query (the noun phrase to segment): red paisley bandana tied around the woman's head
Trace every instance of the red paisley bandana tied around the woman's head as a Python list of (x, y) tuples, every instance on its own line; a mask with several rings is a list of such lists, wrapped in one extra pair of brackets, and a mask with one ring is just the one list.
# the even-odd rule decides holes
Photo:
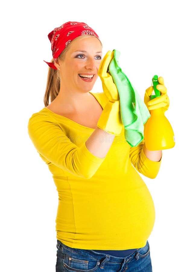
[[(95, 37), (98, 37), (97, 33), (94, 32), (94, 30), (85, 23), (67, 22), (65, 24), (62, 24), (59, 28), (54, 28), (54, 30), (51, 31), (48, 35), (51, 42), (52, 56), (54, 61), (59, 57), (65, 47), (72, 40), (82, 35), (93, 35)], [(57, 70), (54, 63), (46, 63), (51, 68)]]

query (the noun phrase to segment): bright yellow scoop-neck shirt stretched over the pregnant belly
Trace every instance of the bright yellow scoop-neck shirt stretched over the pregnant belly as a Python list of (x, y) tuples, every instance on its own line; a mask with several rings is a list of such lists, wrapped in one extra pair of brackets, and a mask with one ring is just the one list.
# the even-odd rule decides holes
[[(92, 95), (104, 108), (105, 95)], [(144, 141), (130, 147), (123, 129), (106, 157), (98, 158), (85, 145), (93, 131), (48, 108), (29, 119), (29, 137), (58, 191), (57, 239), (71, 248), (141, 248), (153, 229), (155, 211), (138, 172), (154, 178), (160, 162), (145, 156)]]

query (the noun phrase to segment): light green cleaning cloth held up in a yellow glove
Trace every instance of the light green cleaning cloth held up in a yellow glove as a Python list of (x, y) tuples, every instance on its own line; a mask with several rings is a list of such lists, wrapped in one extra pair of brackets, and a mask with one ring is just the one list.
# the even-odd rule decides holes
[(150, 117), (148, 108), (128, 77), (119, 67), (120, 52), (114, 51), (114, 58), (109, 63), (109, 73), (119, 93), (121, 119), (125, 128), (125, 140), (130, 146), (137, 146), (144, 139), (144, 123)]

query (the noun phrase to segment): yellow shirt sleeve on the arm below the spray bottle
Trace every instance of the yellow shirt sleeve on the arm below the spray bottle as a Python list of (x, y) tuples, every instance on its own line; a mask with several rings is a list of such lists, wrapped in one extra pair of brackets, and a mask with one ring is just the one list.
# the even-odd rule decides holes
[(139, 173), (154, 179), (160, 169), (160, 161), (149, 160), (143, 151), (144, 140), (137, 147), (130, 148), (130, 160)]

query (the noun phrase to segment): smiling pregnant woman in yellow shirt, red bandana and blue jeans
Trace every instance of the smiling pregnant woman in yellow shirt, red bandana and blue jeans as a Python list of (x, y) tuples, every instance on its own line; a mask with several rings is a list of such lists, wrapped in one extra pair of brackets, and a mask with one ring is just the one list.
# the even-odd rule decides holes
[[(45, 108), (30, 117), (28, 132), (58, 190), (56, 271), (152, 271), (147, 239), (154, 204), (136, 170), (156, 177), (162, 152), (125, 141), (119, 95), (107, 73), (113, 54), (101, 63), (96, 32), (67, 22), (48, 37), (53, 61)], [(92, 93), (98, 73), (104, 92)]]

